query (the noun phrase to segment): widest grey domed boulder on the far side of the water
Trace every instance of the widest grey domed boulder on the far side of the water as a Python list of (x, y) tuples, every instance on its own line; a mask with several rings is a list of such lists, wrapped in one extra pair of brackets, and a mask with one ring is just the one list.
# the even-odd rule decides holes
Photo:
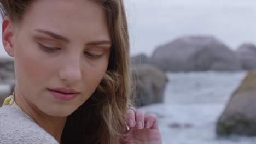
[(233, 71), (241, 64), (236, 53), (214, 37), (187, 36), (159, 46), (152, 63), (164, 71)]

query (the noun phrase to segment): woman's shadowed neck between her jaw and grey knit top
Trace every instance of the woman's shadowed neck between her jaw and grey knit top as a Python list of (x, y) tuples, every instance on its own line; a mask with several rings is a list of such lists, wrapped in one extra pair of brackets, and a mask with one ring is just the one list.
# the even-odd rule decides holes
[(55, 117), (46, 115), (40, 111), (36, 106), (30, 105), (22, 97), (21, 93), (15, 91), (15, 103), (25, 112), (34, 122), (42, 127), (47, 133), (53, 136), (59, 143), (61, 143), (62, 131), (65, 127), (67, 117)]

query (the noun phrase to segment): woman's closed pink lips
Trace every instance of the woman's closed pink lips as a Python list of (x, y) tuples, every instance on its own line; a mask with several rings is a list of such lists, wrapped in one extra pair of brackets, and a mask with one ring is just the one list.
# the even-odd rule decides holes
[(70, 101), (73, 100), (74, 98), (76, 98), (78, 96), (79, 93), (62, 93), (62, 92), (58, 92), (58, 91), (53, 91), (51, 89), (48, 89), (48, 91), (53, 94), (53, 96), (56, 99), (59, 100), (63, 100), (63, 101)]

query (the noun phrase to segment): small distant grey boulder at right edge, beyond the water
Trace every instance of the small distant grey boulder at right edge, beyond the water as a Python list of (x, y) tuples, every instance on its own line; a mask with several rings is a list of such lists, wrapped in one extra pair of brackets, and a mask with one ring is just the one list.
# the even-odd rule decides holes
[(245, 70), (256, 69), (256, 46), (254, 44), (243, 44), (236, 50), (242, 68)]

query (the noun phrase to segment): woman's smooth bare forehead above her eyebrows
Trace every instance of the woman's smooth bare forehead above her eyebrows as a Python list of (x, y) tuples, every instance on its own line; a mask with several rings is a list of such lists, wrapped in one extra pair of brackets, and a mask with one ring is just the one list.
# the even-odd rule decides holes
[(106, 13), (97, 3), (88, 0), (35, 1), (21, 23), (27, 29), (48, 29), (70, 37), (86, 35), (109, 38)]

